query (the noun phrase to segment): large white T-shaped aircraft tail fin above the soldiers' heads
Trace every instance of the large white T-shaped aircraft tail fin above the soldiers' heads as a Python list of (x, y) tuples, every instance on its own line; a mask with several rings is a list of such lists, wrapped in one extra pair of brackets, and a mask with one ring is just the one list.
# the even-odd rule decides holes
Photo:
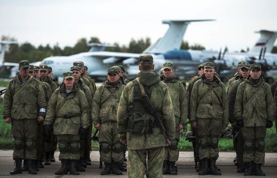
[(165, 20), (164, 24), (169, 25), (169, 29), (163, 38), (160, 38), (153, 45), (149, 46), (144, 53), (164, 53), (169, 50), (180, 49), (185, 34), (186, 28), (191, 22), (202, 22), (202, 21), (214, 21), (211, 19), (207, 20)]

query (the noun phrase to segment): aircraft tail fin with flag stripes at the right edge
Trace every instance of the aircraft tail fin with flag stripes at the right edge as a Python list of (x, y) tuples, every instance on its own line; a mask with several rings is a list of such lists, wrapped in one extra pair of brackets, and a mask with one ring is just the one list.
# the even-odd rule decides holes
[(270, 52), (277, 38), (277, 31), (260, 30), (256, 33), (261, 36), (249, 52), (260, 52), (262, 47), (266, 47), (267, 52)]

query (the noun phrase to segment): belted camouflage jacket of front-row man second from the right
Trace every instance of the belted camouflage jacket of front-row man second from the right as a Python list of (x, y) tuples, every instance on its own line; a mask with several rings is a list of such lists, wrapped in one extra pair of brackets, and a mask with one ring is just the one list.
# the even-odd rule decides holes
[(190, 97), (190, 121), (197, 118), (223, 120), (228, 125), (228, 98), (224, 83), (215, 75), (214, 81), (206, 81), (205, 75), (195, 82)]

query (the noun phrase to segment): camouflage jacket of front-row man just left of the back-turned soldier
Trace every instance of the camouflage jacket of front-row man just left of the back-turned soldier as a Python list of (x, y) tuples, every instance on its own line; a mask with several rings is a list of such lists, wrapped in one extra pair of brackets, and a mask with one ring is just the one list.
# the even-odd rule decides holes
[(120, 81), (110, 84), (106, 80), (97, 90), (92, 103), (92, 121), (96, 125), (107, 121), (116, 122), (116, 113), (121, 93), (125, 85)]

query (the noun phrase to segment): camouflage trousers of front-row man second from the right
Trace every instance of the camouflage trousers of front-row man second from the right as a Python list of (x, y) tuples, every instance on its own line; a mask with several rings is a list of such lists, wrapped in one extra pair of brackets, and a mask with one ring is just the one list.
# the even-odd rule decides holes
[(222, 120), (213, 118), (198, 118), (199, 158), (218, 159), (219, 136), (222, 130)]

